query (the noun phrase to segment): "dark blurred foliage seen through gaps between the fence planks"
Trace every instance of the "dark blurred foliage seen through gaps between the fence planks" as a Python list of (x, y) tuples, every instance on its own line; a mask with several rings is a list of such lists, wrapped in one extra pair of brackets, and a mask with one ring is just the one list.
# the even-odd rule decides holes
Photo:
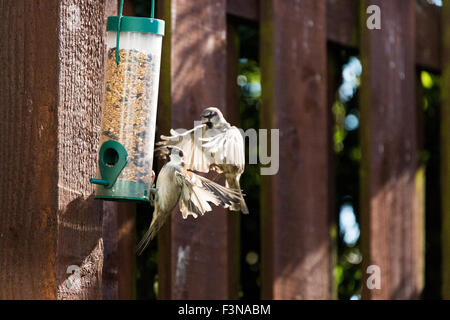
[[(145, 16), (148, 1), (133, 0), (136, 14)], [(339, 1), (329, 1), (328, 6), (338, 6)], [(361, 3), (359, 3), (361, 5)], [(442, 1), (420, 2), (421, 6), (442, 7)], [(434, 9), (432, 9), (434, 10)], [(439, 9), (438, 9), (439, 10)], [(261, 109), (260, 70), (260, 26), (257, 21), (231, 16), (227, 22), (233, 24), (235, 32), (238, 73), (236, 79), (239, 104), (238, 127), (259, 129)], [(332, 157), (334, 159), (333, 224), (336, 226), (336, 265), (333, 281), (336, 286), (335, 298), (342, 300), (361, 299), (362, 254), (360, 241), (360, 97), (361, 74), (364, 72), (359, 50), (336, 43), (328, 44), (328, 59), (336, 76), (330, 81), (335, 88), (331, 101), (332, 114)], [(330, 65), (329, 65), (330, 67)], [(431, 69), (431, 70), (430, 70)], [(440, 198), (440, 104), (441, 75), (437, 70), (417, 67), (418, 113), (420, 118), (418, 161), (426, 170), (425, 175), (425, 280), (420, 298), (441, 299), (441, 198)], [(312, 133), (311, 133), (312, 134)], [(247, 149), (248, 156), (248, 149)], [(248, 159), (248, 158), (247, 158)], [(242, 187), (247, 195), (251, 212), (240, 217), (239, 254), (239, 299), (259, 299), (261, 297), (261, 246), (260, 246), (260, 186), (261, 177), (257, 165), (247, 165), (242, 177)], [(147, 206), (139, 206), (137, 233), (143, 235), (148, 219), (139, 212), (147, 211)], [(138, 299), (158, 297), (158, 249), (152, 248), (138, 257), (137, 291)], [(151, 270), (151, 272), (149, 272)], [(149, 283), (153, 282), (152, 290)]]

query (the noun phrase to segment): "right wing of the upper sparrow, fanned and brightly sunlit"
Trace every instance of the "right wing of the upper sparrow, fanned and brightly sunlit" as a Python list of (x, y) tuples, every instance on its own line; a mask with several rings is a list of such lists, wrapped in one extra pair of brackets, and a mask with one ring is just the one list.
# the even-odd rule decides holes
[(221, 132), (213, 137), (200, 139), (208, 154), (214, 155), (215, 164), (231, 164), (244, 171), (245, 149), (244, 138), (236, 127)]

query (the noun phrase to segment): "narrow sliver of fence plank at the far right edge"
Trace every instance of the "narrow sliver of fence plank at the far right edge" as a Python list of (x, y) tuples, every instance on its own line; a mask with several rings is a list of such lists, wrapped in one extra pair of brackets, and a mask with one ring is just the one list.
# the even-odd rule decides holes
[(441, 194), (442, 194), (442, 298), (450, 299), (450, 3), (442, 7), (442, 110), (441, 110)]

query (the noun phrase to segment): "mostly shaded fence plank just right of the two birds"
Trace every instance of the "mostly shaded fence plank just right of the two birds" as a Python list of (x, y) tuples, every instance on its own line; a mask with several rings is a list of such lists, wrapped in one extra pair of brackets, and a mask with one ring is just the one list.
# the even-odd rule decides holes
[(332, 296), (326, 1), (261, 1), (262, 128), (280, 168), (262, 176), (263, 298)]

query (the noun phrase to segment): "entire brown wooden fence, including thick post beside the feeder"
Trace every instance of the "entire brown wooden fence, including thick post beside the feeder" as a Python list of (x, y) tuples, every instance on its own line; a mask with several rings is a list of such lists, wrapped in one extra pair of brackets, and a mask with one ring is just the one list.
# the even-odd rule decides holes
[[(381, 8), (381, 30), (365, 27)], [(132, 15), (132, 4), (126, 5)], [(442, 73), (444, 298), (450, 298), (450, 3), (402, 0), (159, 0), (166, 21), (158, 129), (204, 106), (237, 118), (233, 19), (259, 23), (261, 128), (280, 128), (280, 171), (261, 182), (262, 297), (336, 297), (332, 58), (359, 50), (363, 298), (424, 286), (424, 181), (416, 70)], [(105, 17), (116, 0), (0, 0), (0, 298), (130, 298), (133, 204), (93, 200)], [(253, 214), (258, 214), (253, 212)], [(173, 215), (159, 238), (163, 299), (238, 294), (237, 216)], [(201, 227), (199, 224), (201, 223)], [(368, 265), (381, 289), (364, 285)], [(67, 268), (80, 266), (74, 288)]]

